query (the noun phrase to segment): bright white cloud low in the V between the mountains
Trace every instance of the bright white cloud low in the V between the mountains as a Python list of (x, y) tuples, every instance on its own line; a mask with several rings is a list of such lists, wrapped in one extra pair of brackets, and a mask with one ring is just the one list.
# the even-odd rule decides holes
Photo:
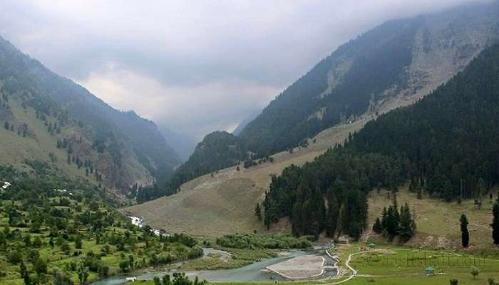
[(116, 63), (107, 63), (80, 83), (110, 105), (166, 122), (176, 132), (197, 139), (214, 130), (214, 125), (219, 130), (234, 130), (248, 113), (264, 108), (282, 90), (246, 81), (165, 85)]

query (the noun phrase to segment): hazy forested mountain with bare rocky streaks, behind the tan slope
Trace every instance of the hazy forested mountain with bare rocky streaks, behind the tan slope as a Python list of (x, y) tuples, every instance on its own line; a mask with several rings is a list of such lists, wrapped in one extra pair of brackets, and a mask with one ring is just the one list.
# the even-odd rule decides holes
[[(389, 21), (317, 63), (237, 136), (255, 158), (265, 157), (361, 114), (408, 105), (448, 81), (498, 37), (497, 1)], [(215, 161), (203, 163), (206, 172), (198, 175), (218, 169)], [(185, 177), (181, 172), (175, 175)]]

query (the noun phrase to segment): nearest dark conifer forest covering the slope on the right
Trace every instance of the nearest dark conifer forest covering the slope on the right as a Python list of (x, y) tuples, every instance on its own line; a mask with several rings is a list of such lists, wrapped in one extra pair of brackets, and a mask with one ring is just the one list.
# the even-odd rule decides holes
[(264, 222), (289, 216), (295, 234), (359, 237), (374, 188), (396, 192), (409, 182), (446, 201), (480, 199), (499, 182), (498, 120), (499, 43), (420, 102), (380, 115), (344, 146), (274, 177)]

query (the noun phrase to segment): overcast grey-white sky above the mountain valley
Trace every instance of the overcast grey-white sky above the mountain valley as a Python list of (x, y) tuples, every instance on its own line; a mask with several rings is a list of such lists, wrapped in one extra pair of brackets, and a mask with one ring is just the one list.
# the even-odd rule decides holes
[(113, 107), (200, 139), (359, 33), (465, 2), (1, 0), (0, 35)]

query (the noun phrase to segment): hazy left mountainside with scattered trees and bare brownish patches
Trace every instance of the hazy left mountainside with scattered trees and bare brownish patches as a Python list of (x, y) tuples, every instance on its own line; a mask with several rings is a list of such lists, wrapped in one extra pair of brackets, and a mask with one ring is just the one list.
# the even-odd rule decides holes
[(0, 38), (0, 161), (48, 163), (118, 190), (180, 163), (155, 123), (120, 112)]

